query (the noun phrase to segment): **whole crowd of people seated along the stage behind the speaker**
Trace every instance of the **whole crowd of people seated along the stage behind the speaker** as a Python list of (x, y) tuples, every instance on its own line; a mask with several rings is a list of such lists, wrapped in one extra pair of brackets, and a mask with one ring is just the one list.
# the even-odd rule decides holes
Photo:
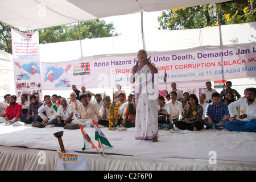
[[(246, 88), (243, 97), (231, 89), (232, 83), (226, 83), (226, 89), (221, 93), (212, 89), (211, 82), (206, 82), (206, 89), (200, 94), (199, 99), (193, 93), (183, 93), (176, 89), (172, 83), (172, 90), (158, 98), (158, 125), (159, 130), (199, 131), (201, 129), (226, 129), (229, 131), (256, 131), (256, 89)], [(43, 122), (51, 126), (64, 127), (64, 129), (79, 129), (79, 124), (92, 127), (92, 119), (105, 127), (109, 127), (111, 118), (109, 113), (112, 105), (111, 98), (101, 94), (81, 90), (72, 86), (73, 92), (70, 99), (53, 94), (44, 96), (40, 101), (39, 96), (33, 94), (28, 97), (22, 94), (20, 102), (16, 96), (6, 94), (5, 102), (0, 102), (0, 122), (14, 123), (16, 121), (31, 124), (34, 121)], [(91, 101), (95, 96), (96, 101)], [(118, 121), (117, 126), (135, 127), (136, 106), (133, 94), (127, 96), (119, 93), (115, 97)]]

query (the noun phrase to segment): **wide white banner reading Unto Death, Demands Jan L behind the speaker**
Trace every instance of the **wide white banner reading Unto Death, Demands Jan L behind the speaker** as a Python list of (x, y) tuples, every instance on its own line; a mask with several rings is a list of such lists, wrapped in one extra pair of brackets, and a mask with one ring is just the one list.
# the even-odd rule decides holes
[[(192, 80), (228, 80), (256, 76), (255, 43), (207, 46), (180, 51), (147, 52), (159, 71), (159, 84)], [(42, 63), (43, 89), (109, 88), (131, 86), (137, 54), (99, 56), (62, 63)], [(168, 84), (168, 86), (170, 86)]]

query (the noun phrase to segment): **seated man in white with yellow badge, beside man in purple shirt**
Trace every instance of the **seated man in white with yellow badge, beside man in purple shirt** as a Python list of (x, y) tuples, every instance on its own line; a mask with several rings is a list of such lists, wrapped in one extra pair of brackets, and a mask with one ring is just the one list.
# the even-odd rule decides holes
[[(44, 114), (46, 113), (46, 115)], [(53, 119), (56, 119), (56, 110), (53, 108), (51, 96), (44, 96), (44, 104), (39, 107), (38, 115), (43, 119), (43, 123), (51, 123)]]

